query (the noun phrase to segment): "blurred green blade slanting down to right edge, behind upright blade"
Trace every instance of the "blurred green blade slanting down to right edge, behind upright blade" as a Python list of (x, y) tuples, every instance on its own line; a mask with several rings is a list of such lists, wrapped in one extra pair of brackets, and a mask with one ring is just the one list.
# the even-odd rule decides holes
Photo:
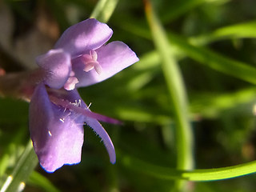
[[(130, 27), (131, 25), (133, 24), (130, 24)], [(131, 31), (130, 29), (127, 29), (126, 26), (122, 27), (123, 29), (137, 34), (136, 30)], [(138, 35), (142, 35), (143, 38), (149, 38), (150, 31), (146, 30), (146, 28), (143, 29), (143, 27), (139, 25), (134, 25), (134, 29), (140, 29), (140, 33), (138, 33)], [(205, 66), (209, 66), (211, 69), (218, 70), (224, 74), (256, 84), (256, 69), (250, 66), (250, 64), (234, 60), (233, 58), (228, 58), (222, 54), (214, 52), (214, 50), (210, 50), (206, 46), (195, 46), (189, 40), (178, 34), (169, 32), (168, 38), (171, 45), (178, 49), (178, 52), (183, 53), (182, 58), (186, 56), (193, 58), (195, 61)], [(169, 53), (172, 51), (173, 49), (169, 50)], [(181, 55), (181, 53), (179, 53), (179, 55)]]

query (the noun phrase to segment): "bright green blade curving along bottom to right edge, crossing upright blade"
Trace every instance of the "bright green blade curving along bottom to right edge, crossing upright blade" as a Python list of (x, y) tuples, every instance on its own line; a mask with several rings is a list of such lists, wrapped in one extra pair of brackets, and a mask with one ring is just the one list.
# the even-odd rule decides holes
[(184, 179), (194, 182), (216, 181), (256, 173), (256, 161), (216, 169), (176, 170), (169, 167), (156, 166), (137, 158), (132, 158), (129, 155), (122, 155), (122, 165), (155, 178), (167, 180)]

